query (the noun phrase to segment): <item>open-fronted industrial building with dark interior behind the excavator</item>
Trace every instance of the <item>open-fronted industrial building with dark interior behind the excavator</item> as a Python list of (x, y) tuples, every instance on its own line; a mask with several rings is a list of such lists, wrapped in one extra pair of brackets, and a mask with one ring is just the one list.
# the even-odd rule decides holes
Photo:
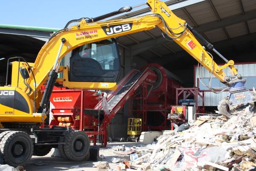
[[(245, 77), (255, 80), (255, 37), (256, 37), (256, 2), (254, 0), (169, 0), (166, 1), (169, 8), (180, 18), (193, 26), (197, 32), (215, 46), (227, 59), (233, 59), (235, 63), (241, 63), (239, 72)], [(137, 17), (149, 13), (149, 9), (122, 14), (111, 18), (121, 19)], [(6, 81), (7, 59), (14, 56), (22, 56), (27, 61), (33, 62), (50, 36), (58, 31), (53, 28), (39, 28), (33, 26), (0, 25), (0, 57), (1, 57), (1, 85)], [(161, 35), (158, 28), (149, 31), (125, 35), (118, 38), (121, 53), (121, 76), (123, 78), (132, 68), (139, 69), (147, 63), (157, 63), (177, 75), (183, 87), (198, 87), (197, 61), (185, 52), (174, 41), (167, 41)], [(214, 55), (214, 54), (213, 54)], [(68, 59), (64, 62), (67, 64)], [(214, 60), (223, 64), (221, 58), (214, 55)], [(249, 65), (250, 64), (250, 65)], [(240, 66), (240, 65), (238, 65)], [(202, 72), (207, 72), (204, 68)], [(227, 70), (225, 71), (226, 73)], [(214, 77), (214, 76), (213, 76)], [(209, 74), (203, 75), (205, 82), (209, 82)], [(214, 82), (219, 82), (213, 78)], [(251, 81), (250, 81), (251, 82)], [(253, 83), (254, 82), (254, 83)], [(250, 83), (252, 89), (255, 81)], [(218, 87), (219, 83), (213, 87)], [(209, 90), (199, 84), (201, 90)], [(205, 92), (205, 106), (217, 106), (227, 92), (215, 94)], [(200, 98), (199, 98), (200, 101)], [(126, 104), (125, 108), (128, 108)], [(202, 105), (200, 101), (199, 106)], [(128, 109), (119, 111), (115, 116), (114, 128), (117, 131), (115, 137), (126, 134)], [(122, 113), (122, 114), (121, 114)]]

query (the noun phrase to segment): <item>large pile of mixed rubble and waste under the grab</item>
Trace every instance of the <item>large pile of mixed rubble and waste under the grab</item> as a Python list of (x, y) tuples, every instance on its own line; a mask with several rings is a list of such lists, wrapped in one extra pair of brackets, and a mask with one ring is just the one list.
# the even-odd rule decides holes
[(187, 130), (172, 131), (158, 137), (157, 143), (137, 147), (135, 155), (141, 156), (120, 165), (130, 170), (254, 171), (255, 138), (254, 113), (243, 110), (230, 119), (201, 116)]

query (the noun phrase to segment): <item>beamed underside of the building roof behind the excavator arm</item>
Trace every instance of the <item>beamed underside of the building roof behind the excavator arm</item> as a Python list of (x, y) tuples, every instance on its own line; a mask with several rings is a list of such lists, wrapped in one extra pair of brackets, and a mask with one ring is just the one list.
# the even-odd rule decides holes
[[(169, 8), (172, 4), (179, 5), (178, 9), (172, 10), (178, 17), (186, 20), (201, 33), (216, 48), (231, 55), (231, 59), (242, 62), (240, 57), (235, 57), (236, 51), (243, 51), (250, 46), (255, 46), (256, 38), (256, 1), (255, 0), (201, 0), (198, 3), (188, 4), (189, 1), (168, 1)], [(184, 3), (181, 5), (181, 3)], [(188, 6), (186, 6), (186, 4)], [(140, 16), (146, 14), (148, 9), (131, 12), (114, 19)], [(160, 29), (133, 33), (119, 38), (119, 43), (124, 47), (132, 46), (133, 55), (138, 55), (149, 62), (171, 65), (183, 61), (183, 65), (175, 65), (172, 69), (191, 64), (195, 60), (188, 57), (174, 41), (166, 41)], [(228, 50), (230, 49), (230, 50)], [(230, 58), (229, 58), (230, 59)], [(185, 64), (185, 65), (184, 65)], [(191, 67), (193, 66), (191, 64)]]

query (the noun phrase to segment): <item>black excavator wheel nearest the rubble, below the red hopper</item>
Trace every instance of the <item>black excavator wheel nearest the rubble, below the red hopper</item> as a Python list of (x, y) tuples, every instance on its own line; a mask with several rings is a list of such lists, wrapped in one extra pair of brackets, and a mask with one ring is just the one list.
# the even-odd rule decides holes
[(84, 131), (73, 130), (66, 134), (64, 152), (70, 160), (81, 161), (88, 157), (90, 139)]

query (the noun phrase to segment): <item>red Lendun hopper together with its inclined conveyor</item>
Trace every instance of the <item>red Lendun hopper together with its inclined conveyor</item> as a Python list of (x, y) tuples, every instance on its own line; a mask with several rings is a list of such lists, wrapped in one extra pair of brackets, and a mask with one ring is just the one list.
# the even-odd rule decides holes
[[(131, 70), (120, 82), (117, 84), (116, 90), (112, 90), (108, 93), (107, 100), (111, 99), (119, 90), (122, 89), (123, 85), (129, 81), (129, 79), (135, 74), (139, 73), (138, 70)], [(104, 118), (101, 120), (101, 124), (99, 125), (99, 129), (96, 126), (99, 123), (99, 119), (95, 119), (93, 116), (93, 111), (97, 112), (102, 111), (102, 101), (96, 100), (95, 98), (98, 96), (93, 96), (96, 92), (92, 92), (89, 90), (53, 90), (50, 101), (52, 104), (55, 104), (56, 108), (52, 108), (52, 116), (53, 120), (50, 122), (49, 127), (57, 126), (61, 123), (60, 126), (69, 126), (72, 129), (76, 130), (84, 130), (89, 136), (90, 140), (93, 140), (93, 144), (96, 145), (96, 135), (102, 135), (102, 144), (107, 145), (108, 133), (107, 133), (107, 124), (111, 122), (111, 119), (118, 112), (120, 108), (123, 107), (125, 102), (133, 96), (134, 92), (140, 87), (141, 84), (149, 84), (153, 85), (156, 80), (157, 75), (154, 71), (150, 69), (146, 69), (140, 75), (140, 77), (136, 80), (136, 82), (126, 91), (126, 93), (119, 99), (118, 103), (116, 103), (109, 114), (106, 115), (103, 113)], [(58, 89), (58, 88), (55, 88)], [(58, 97), (57, 102), (54, 101), (54, 98)], [(68, 101), (68, 97), (72, 97), (74, 101)], [(78, 99), (80, 98), (80, 99)], [(70, 98), (71, 99), (71, 98)], [(87, 102), (85, 103), (85, 99)], [(59, 101), (58, 101), (59, 100)], [(67, 103), (65, 103), (67, 100)], [(89, 101), (89, 103), (88, 103)], [(63, 103), (64, 102), (64, 103)], [(82, 109), (82, 110), (81, 110)], [(89, 113), (84, 112), (84, 110), (92, 110), (91, 116)], [(79, 111), (80, 110), (80, 111)], [(70, 118), (71, 116), (71, 118)], [(79, 117), (78, 117), (79, 116)], [(67, 117), (67, 120), (64, 120)], [(70, 118), (70, 119), (69, 119)], [(86, 118), (86, 119), (84, 119)], [(63, 121), (61, 120), (63, 119)], [(70, 120), (72, 122), (70, 122)], [(87, 123), (84, 123), (84, 121)], [(93, 124), (94, 122), (94, 124)], [(63, 125), (63, 124), (69, 125)]]

